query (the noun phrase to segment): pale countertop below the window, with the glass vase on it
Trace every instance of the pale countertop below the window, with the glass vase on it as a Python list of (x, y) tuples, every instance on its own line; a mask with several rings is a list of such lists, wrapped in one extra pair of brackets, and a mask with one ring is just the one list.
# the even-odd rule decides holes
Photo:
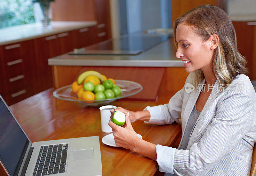
[(50, 36), (97, 25), (96, 21), (52, 21), (51, 29), (43, 29), (41, 23), (11, 26), (0, 29), (0, 46), (30, 39)]

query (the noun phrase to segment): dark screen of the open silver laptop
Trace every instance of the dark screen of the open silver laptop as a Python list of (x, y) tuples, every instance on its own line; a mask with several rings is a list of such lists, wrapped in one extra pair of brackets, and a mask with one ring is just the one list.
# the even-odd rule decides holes
[(11, 176), (18, 175), (29, 140), (0, 98), (0, 159)]

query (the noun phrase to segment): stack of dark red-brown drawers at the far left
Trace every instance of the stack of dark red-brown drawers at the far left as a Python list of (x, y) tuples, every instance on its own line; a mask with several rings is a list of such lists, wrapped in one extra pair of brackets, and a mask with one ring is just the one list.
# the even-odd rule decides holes
[(34, 95), (37, 88), (32, 40), (1, 46), (0, 94), (11, 105)]

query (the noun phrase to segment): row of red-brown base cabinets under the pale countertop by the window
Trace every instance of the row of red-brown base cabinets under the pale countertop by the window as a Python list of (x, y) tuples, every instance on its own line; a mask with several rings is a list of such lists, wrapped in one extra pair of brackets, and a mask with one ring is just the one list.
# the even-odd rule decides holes
[(0, 46), (0, 94), (12, 105), (53, 86), (48, 59), (96, 42), (96, 26)]

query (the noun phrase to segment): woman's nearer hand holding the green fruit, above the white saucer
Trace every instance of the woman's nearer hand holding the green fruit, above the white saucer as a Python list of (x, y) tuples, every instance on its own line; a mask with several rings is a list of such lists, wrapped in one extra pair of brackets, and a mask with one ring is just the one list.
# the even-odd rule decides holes
[(134, 147), (136, 146), (135, 143), (138, 141), (137, 139), (140, 138), (132, 128), (129, 112), (125, 116), (125, 124), (122, 127), (113, 123), (111, 119), (109, 120), (108, 125), (113, 130), (113, 135), (115, 137), (117, 146), (134, 150)]

